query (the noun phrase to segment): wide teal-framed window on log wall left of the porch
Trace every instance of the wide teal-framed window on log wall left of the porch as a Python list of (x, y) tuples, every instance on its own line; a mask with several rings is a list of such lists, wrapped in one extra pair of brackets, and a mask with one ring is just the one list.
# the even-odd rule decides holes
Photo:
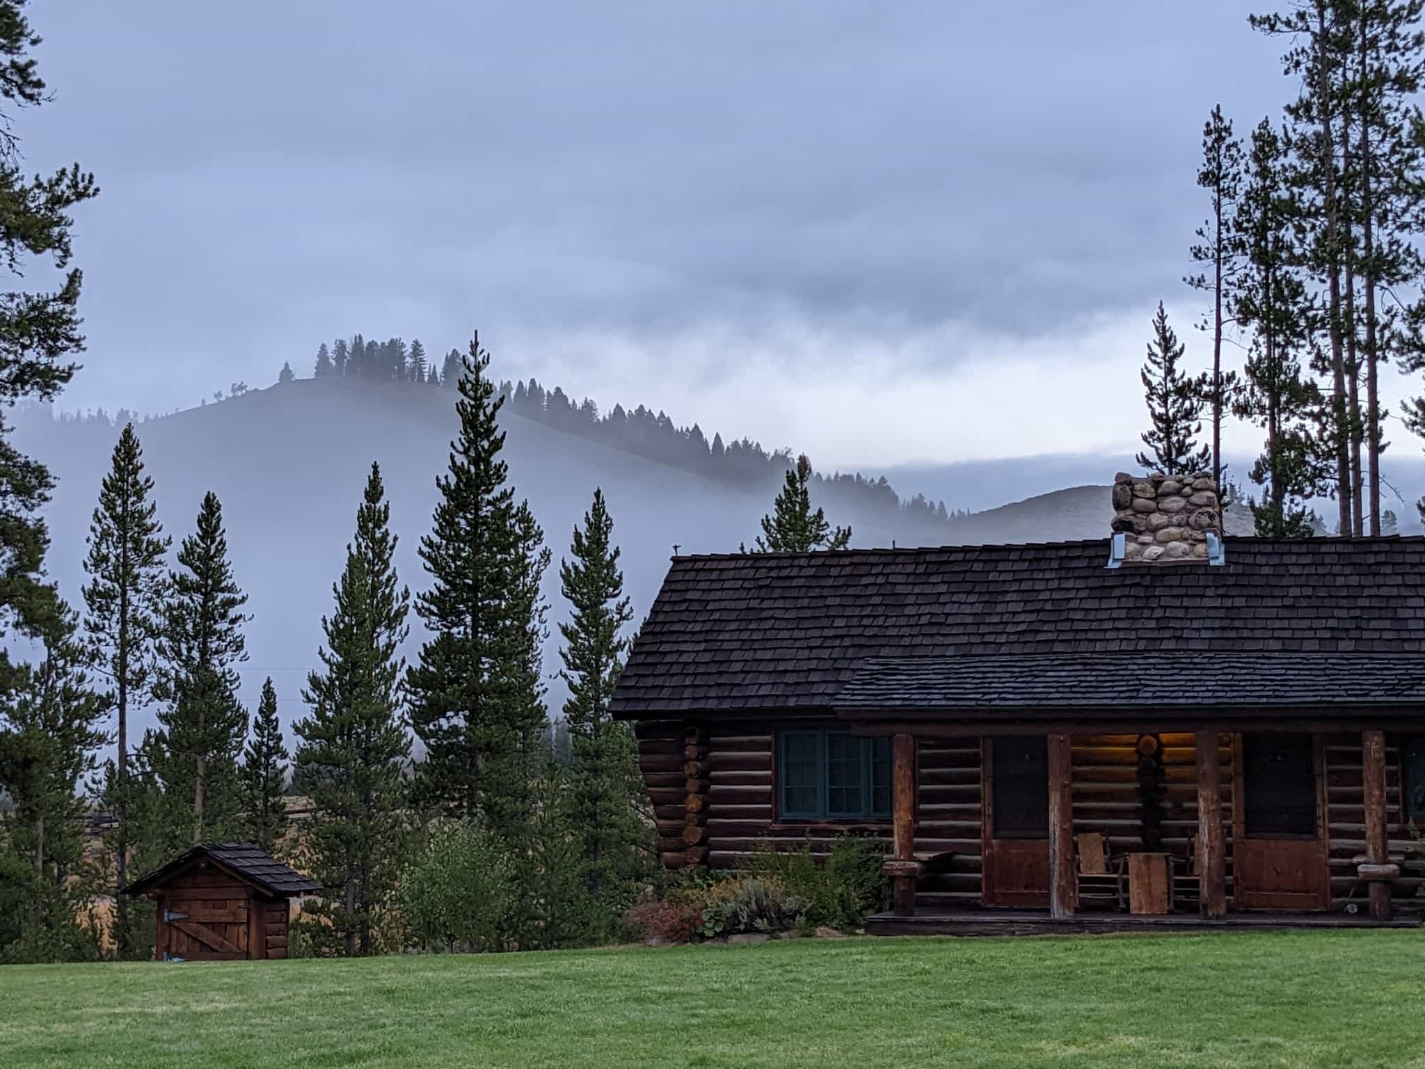
[(891, 740), (849, 731), (781, 731), (777, 735), (781, 820), (891, 817)]

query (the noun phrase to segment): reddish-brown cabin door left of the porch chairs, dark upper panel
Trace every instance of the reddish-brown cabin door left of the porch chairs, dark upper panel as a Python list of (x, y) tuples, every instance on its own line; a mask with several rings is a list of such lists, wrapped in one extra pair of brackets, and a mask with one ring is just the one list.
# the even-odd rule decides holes
[(989, 907), (1049, 905), (1049, 740), (980, 744), (982, 897)]

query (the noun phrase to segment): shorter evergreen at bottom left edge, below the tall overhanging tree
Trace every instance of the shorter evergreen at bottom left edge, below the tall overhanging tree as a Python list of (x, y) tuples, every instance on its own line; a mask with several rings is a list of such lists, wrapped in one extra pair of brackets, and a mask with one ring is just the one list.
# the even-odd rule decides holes
[[(100, 887), (86, 859), (88, 802), (80, 787), (94, 771), (94, 751), (108, 701), (90, 686), (77, 617), (64, 604), (41, 634), (44, 656), (21, 666), (17, 687), (0, 704), (0, 961), (74, 961), (97, 956), (76, 918)], [(19, 865), (23, 858), (23, 868)]]

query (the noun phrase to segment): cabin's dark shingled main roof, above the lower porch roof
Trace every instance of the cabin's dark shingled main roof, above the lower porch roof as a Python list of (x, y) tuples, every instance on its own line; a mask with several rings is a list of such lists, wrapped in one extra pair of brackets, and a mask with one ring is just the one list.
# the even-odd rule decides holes
[(675, 557), (613, 710), (824, 710), (869, 657), (1425, 654), (1425, 539), (1226, 539), (1104, 567), (1107, 539)]

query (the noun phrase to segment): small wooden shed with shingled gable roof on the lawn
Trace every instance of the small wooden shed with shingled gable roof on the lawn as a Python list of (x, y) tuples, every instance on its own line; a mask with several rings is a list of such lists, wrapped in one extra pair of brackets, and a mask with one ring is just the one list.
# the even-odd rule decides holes
[(318, 891), (248, 842), (204, 842), (128, 885), (158, 907), (157, 961), (285, 958), (291, 899)]

